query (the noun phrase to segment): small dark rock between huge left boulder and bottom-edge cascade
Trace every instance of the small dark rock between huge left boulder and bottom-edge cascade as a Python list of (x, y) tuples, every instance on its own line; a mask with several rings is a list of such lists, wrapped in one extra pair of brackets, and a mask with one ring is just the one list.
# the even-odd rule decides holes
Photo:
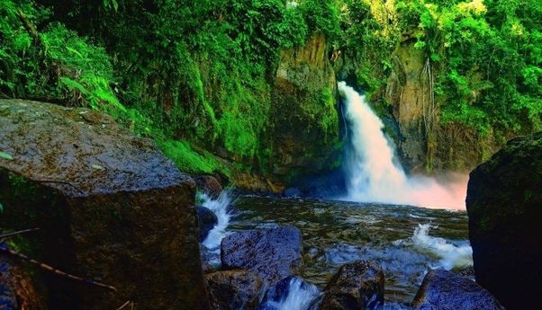
[(263, 282), (247, 270), (217, 271), (205, 275), (213, 310), (256, 309)]

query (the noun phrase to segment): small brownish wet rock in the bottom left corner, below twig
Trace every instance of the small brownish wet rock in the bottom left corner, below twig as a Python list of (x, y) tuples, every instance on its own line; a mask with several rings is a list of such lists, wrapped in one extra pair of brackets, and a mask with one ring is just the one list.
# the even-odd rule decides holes
[[(6, 245), (0, 244), (0, 247), (5, 248)], [(15, 261), (0, 256), (0, 309), (48, 309), (43, 292), (34, 286), (35, 283), (28, 272)]]

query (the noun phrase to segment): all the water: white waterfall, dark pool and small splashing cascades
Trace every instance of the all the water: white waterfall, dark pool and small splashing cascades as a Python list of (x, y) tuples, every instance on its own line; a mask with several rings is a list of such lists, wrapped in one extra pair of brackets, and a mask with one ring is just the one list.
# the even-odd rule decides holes
[(384, 269), (384, 309), (409, 309), (428, 270), (472, 267), (463, 210), (466, 179), (441, 183), (404, 173), (382, 121), (364, 96), (343, 82), (339, 92), (348, 126), (343, 163), (347, 194), (330, 199), (244, 196), (235, 201), (229, 191), (219, 199), (200, 195), (203, 206), (219, 219), (203, 241), (203, 259), (219, 266), (221, 239), (234, 231), (296, 226), (304, 248), (298, 275), (308, 283), (291, 279), (289, 293), (268, 302), (273, 309), (307, 309), (339, 267), (356, 260), (373, 260)]

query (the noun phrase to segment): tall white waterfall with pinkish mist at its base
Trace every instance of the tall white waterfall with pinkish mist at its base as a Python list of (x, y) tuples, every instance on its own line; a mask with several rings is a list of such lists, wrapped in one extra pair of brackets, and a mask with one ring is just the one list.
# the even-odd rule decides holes
[(363, 95), (339, 82), (348, 123), (348, 150), (343, 164), (348, 197), (363, 202), (408, 204), (429, 208), (465, 208), (466, 182), (441, 185), (427, 177), (410, 177), (394, 160), (384, 123)]

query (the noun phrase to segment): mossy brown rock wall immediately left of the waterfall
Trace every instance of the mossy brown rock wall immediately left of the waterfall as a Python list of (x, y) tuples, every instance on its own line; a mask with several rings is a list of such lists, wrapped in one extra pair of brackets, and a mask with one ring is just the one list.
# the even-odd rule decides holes
[(273, 166), (277, 180), (329, 169), (339, 141), (337, 81), (323, 34), (281, 52), (272, 85)]

